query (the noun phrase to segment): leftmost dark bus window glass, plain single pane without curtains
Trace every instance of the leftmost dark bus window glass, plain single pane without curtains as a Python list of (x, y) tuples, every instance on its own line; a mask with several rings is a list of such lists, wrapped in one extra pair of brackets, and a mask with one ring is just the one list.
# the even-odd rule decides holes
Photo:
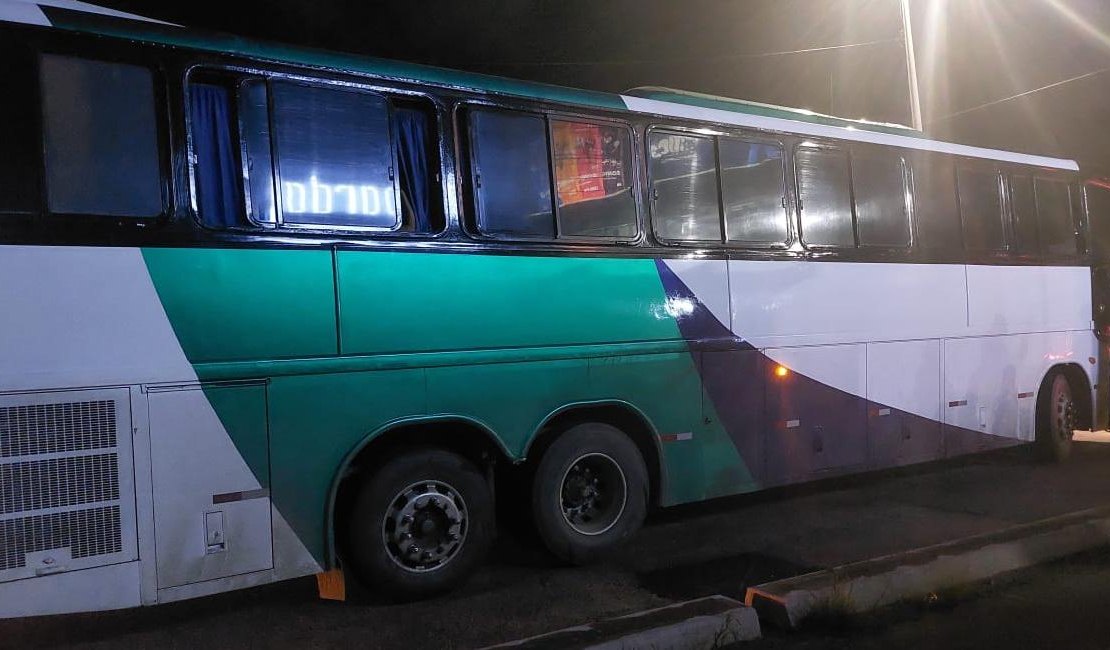
[(154, 216), (162, 182), (154, 85), (145, 68), (41, 59), (51, 212)]

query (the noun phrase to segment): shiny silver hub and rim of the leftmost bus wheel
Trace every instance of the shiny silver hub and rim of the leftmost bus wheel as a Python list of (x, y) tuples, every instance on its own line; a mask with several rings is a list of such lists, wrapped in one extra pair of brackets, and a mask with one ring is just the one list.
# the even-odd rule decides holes
[(390, 504), (382, 542), (406, 571), (433, 571), (450, 562), (466, 540), (466, 502), (438, 480), (414, 483)]

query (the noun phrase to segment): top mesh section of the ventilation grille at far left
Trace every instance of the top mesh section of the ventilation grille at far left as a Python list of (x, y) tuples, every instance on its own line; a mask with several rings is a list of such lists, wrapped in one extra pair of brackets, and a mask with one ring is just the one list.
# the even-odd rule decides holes
[(115, 402), (0, 408), (0, 458), (115, 446)]

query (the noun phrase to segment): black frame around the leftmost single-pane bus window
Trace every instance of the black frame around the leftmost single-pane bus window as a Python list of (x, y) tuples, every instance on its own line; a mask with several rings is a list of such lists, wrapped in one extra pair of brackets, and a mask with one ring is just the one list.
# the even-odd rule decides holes
[[(173, 179), (172, 179), (172, 146), (170, 136), (170, 111), (169, 90), (167, 88), (170, 79), (165, 65), (158, 57), (141, 57), (141, 53), (150, 52), (151, 49), (140, 47), (138, 50), (129, 50), (125, 54), (115, 53), (117, 50), (107, 51), (103, 48), (74, 48), (54, 47), (46, 44), (41, 47), (29, 45), (31, 58), (34, 61), (34, 101), (38, 103), (39, 143), (41, 155), (39, 155), (39, 190), (40, 210), (39, 214), (43, 220), (67, 223), (108, 223), (111, 222), (121, 227), (145, 228), (152, 225), (165, 225), (173, 217)], [(47, 155), (47, 112), (42, 92), (42, 58), (46, 55), (64, 57), (82, 61), (93, 61), (98, 63), (109, 63), (115, 65), (131, 65), (141, 68), (150, 73), (151, 102), (154, 110), (154, 138), (158, 149), (158, 176), (159, 176), (159, 200), (161, 211), (150, 215), (124, 216), (118, 214), (107, 214), (102, 212), (54, 212), (50, 210), (50, 183), (48, 174)]]

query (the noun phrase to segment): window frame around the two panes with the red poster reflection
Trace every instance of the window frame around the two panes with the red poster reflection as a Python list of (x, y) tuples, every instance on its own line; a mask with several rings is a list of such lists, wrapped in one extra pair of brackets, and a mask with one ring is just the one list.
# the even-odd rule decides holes
[[(487, 242), (508, 242), (508, 243), (539, 243), (539, 244), (576, 244), (576, 245), (636, 245), (644, 240), (644, 210), (642, 205), (642, 183), (639, 173), (639, 160), (636, 156), (636, 151), (638, 149), (638, 138), (636, 130), (629, 122), (589, 115), (585, 113), (577, 113), (574, 111), (565, 111), (554, 108), (546, 106), (516, 106), (507, 105), (496, 102), (485, 102), (478, 100), (462, 100), (455, 108), (456, 114), (463, 122), (462, 129), (458, 131), (465, 133), (465, 149), (466, 149), (466, 165), (467, 165), (467, 179), (464, 181), (466, 190), (468, 193), (470, 201), (467, 202), (472, 212), (471, 219), (465, 219), (463, 221), (463, 231), (477, 240)], [(481, 207), (478, 204), (477, 194), (477, 180), (482, 173), (481, 165), (478, 164), (478, 143), (474, 133), (474, 122), (471, 116), (476, 111), (485, 111), (492, 113), (516, 113), (538, 116), (544, 122), (544, 138), (547, 144), (547, 183), (551, 187), (551, 203), (552, 203), (552, 219), (554, 220), (554, 237), (545, 236), (513, 236), (513, 235), (498, 235), (485, 232), (481, 223)], [(636, 210), (636, 232), (630, 237), (608, 237), (608, 236), (564, 236), (562, 235), (562, 224), (559, 222), (559, 205), (558, 205), (558, 177), (556, 176), (557, 170), (555, 165), (555, 145), (554, 145), (554, 134), (552, 130), (552, 122), (578, 122), (585, 124), (594, 124), (597, 126), (615, 126), (623, 129), (628, 134), (628, 170), (630, 173), (630, 183), (628, 186), (628, 192), (633, 199), (633, 205)]]

